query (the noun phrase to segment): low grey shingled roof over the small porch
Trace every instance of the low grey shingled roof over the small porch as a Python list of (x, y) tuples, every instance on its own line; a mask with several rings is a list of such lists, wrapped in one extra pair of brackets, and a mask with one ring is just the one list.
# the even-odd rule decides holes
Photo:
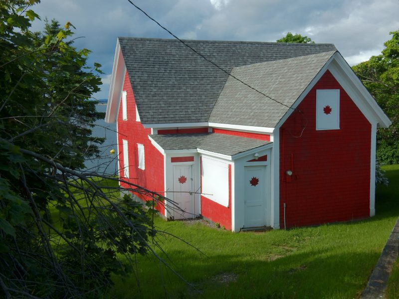
[(271, 143), (216, 133), (150, 135), (150, 137), (164, 150), (202, 149), (229, 156)]

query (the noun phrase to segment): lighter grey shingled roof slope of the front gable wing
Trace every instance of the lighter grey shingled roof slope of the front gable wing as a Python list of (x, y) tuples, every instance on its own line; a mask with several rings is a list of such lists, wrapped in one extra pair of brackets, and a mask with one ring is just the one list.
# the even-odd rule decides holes
[[(231, 74), (291, 107), (335, 52), (235, 67)], [(288, 107), (229, 77), (210, 114), (209, 122), (274, 128)]]

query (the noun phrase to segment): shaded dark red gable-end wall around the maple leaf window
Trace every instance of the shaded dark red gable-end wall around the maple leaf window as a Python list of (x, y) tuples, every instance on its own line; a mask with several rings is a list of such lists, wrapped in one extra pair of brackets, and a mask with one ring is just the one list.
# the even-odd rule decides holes
[[(316, 131), (317, 89), (340, 90), (340, 130)], [(368, 217), (371, 124), (329, 71), (298, 109), (280, 128), (280, 227), (284, 203), (287, 227)]]

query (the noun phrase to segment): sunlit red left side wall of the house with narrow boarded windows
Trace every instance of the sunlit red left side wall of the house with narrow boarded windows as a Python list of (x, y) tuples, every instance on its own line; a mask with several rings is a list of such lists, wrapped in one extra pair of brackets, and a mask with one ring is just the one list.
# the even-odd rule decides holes
[[(123, 169), (122, 140), (127, 140), (129, 150), (129, 176), (131, 177), (129, 182), (138, 184), (149, 190), (162, 192), (165, 190), (164, 155), (160, 153), (148, 139), (148, 135), (151, 134), (151, 129), (145, 129), (141, 122), (136, 122), (136, 102), (127, 72), (123, 90), (127, 92), (128, 119), (126, 121), (122, 120), (122, 103), (120, 103), (118, 114), (119, 168)], [(145, 170), (138, 168), (137, 144), (144, 145)], [(119, 176), (123, 178), (122, 171), (119, 172)], [(122, 186), (128, 187), (127, 184), (122, 184)], [(145, 196), (140, 197), (143, 200), (151, 199)], [(165, 215), (165, 207), (163, 204), (157, 205), (156, 208)]]

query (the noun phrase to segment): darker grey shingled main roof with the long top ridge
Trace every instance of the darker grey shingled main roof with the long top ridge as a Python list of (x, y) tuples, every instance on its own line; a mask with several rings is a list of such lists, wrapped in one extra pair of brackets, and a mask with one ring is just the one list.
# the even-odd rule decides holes
[[(223, 69), (323, 53), (333, 44), (186, 40)], [(207, 122), (228, 75), (176, 39), (119, 37), (143, 124)]]

